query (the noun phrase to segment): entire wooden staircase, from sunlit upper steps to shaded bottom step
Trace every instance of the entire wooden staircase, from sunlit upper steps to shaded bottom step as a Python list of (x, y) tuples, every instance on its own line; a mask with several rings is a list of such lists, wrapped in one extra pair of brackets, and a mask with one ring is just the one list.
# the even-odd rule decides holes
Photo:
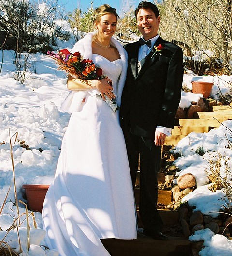
[[(212, 112), (197, 112), (194, 119), (179, 119), (179, 124), (174, 127), (172, 135), (166, 137), (163, 148), (175, 146), (191, 132), (209, 132), (229, 119), (232, 119), (231, 106), (213, 106)], [(171, 191), (159, 189), (158, 202), (168, 205), (171, 200)], [(139, 188), (135, 189), (135, 201), (139, 204)], [(179, 213), (167, 209), (160, 209), (159, 213), (165, 225), (163, 233), (169, 238), (167, 241), (154, 240), (143, 235), (138, 235), (134, 240), (103, 239), (102, 243), (111, 256), (192, 256), (191, 242), (188, 238), (181, 232), (172, 231), (172, 227), (179, 225)], [(139, 213), (137, 215), (138, 227), (141, 228)]]

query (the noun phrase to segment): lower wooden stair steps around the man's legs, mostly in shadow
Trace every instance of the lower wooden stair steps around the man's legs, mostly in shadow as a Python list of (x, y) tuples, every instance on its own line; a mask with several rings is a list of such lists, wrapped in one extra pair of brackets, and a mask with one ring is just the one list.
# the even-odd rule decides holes
[[(169, 204), (172, 200), (172, 192), (159, 190), (158, 201)], [(139, 188), (135, 188), (135, 201), (139, 205)], [(154, 240), (141, 234), (134, 240), (102, 239), (102, 243), (111, 256), (192, 256), (191, 242), (185, 238), (180, 230), (178, 211), (159, 209), (160, 217), (164, 223), (164, 234), (168, 236), (167, 241)], [(138, 216), (138, 228), (142, 223)]]

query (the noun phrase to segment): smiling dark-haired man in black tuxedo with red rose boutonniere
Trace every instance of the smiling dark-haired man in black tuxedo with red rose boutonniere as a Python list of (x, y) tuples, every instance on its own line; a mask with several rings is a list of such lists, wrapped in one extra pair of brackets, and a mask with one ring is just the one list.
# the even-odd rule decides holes
[(171, 135), (180, 102), (183, 80), (182, 49), (163, 40), (158, 29), (160, 14), (155, 4), (140, 2), (135, 10), (139, 41), (125, 45), (127, 80), (120, 108), (133, 186), (140, 159), (140, 207), (143, 233), (167, 240), (161, 233), (157, 211), (157, 172), (161, 145)]

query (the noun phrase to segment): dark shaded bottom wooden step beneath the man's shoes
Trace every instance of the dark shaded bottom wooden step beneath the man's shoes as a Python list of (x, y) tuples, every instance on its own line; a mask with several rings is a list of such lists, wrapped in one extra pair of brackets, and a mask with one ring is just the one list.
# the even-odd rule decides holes
[(169, 236), (167, 241), (138, 235), (134, 240), (102, 239), (111, 256), (191, 256), (191, 242)]

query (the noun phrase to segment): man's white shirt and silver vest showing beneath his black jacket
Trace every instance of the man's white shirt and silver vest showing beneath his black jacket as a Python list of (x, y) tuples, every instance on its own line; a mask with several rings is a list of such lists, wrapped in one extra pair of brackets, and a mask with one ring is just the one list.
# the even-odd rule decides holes
[[(155, 45), (155, 42), (156, 42), (158, 37), (159, 37), (159, 34), (157, 36), (155, 36), (155, 37), (150, 39), (151, 40), (151, 48), (148, 47), (146, 44), (141, 45), (139, 47), (138, 62), (140, 62), (143, 58), (146, 57), (146, 55), (148, 55), (150, 53), (150, 51), (153, 48), (153, 46)], [(164, 127), (164, 126), (157, 126), (156, 127), (156, 131), (160, 131), (160, 132), (166, 134), (167, 136), (170, 136), (171, 132), (172, 132), (172, 129)]]

